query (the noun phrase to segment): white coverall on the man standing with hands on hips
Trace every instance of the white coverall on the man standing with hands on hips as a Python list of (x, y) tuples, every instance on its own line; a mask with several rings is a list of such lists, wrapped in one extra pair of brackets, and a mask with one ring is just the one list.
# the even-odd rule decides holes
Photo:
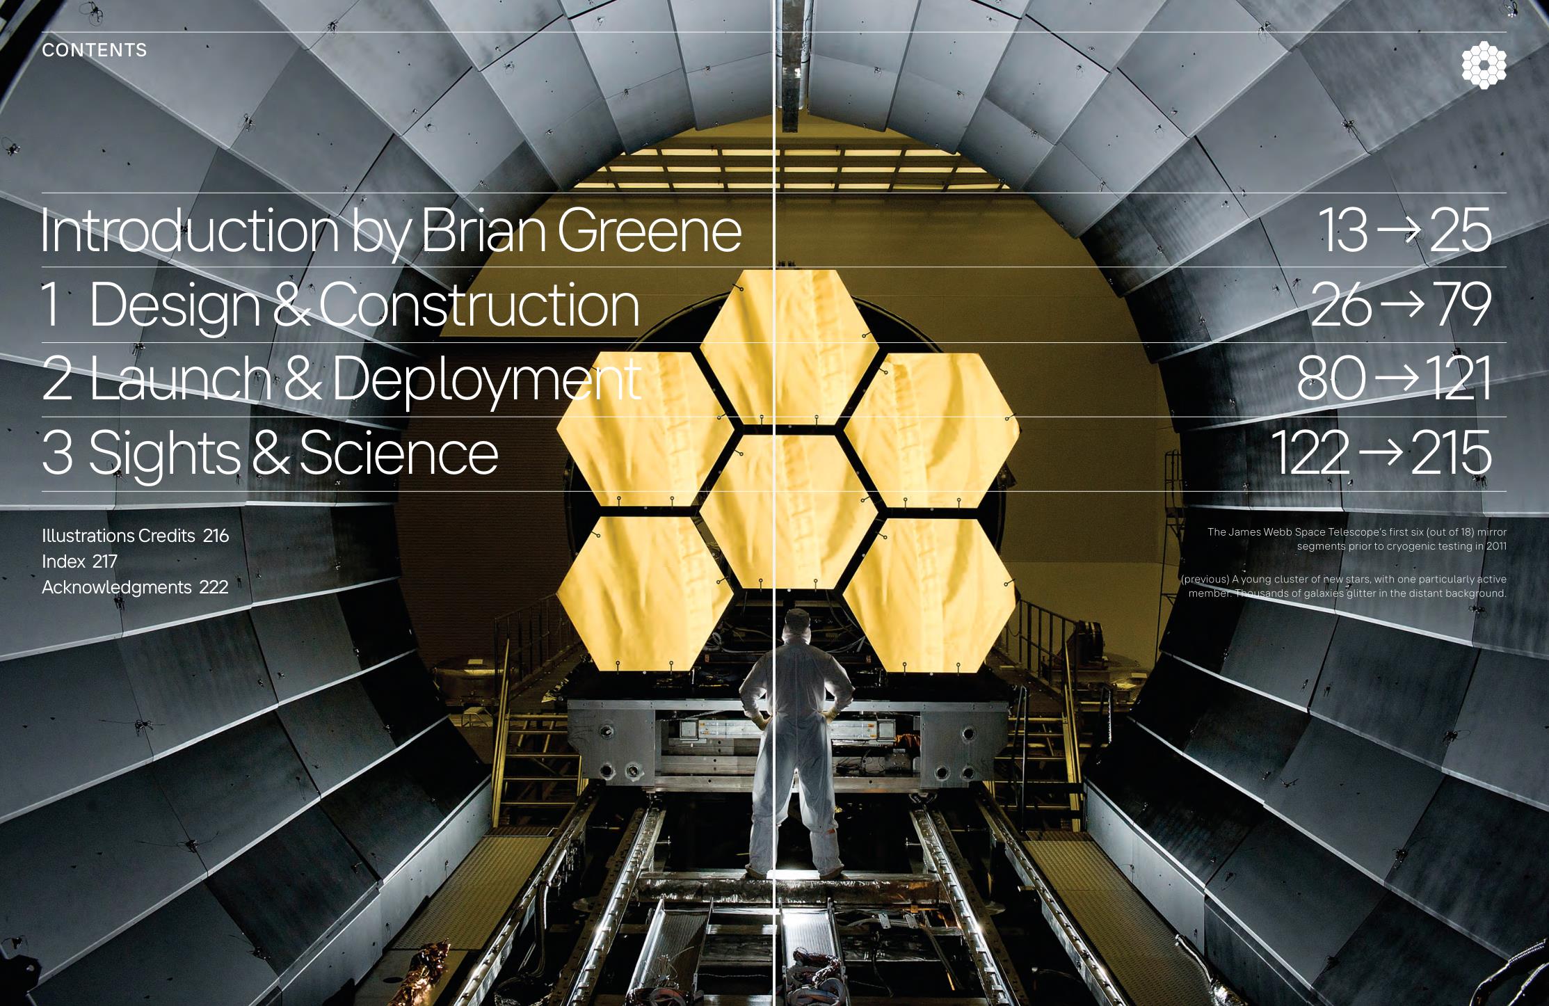
[(742, 682), (742, 708), (757, 719), (757, 701), (768, 696), (771, 721), (759, 741), (753, 770), (753, 832), (748, 868), (768, 873), (774, 865), (774, 832), (790, 812), (790, 775), (801, 780), (801, 820), (812, 834), (818, 873), (841, 870), (840, 832), (833, 822), (833, 749), (823, 716), (824, 693), (833, 693), (835, 711), (850, 704), (855, 690), (840, 662), (812, 646), (812, 634), (782, 637)]

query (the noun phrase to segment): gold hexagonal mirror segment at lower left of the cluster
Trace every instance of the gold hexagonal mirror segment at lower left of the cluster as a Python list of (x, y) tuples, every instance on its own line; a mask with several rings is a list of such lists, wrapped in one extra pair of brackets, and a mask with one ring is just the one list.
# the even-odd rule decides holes
[(686, 671), (731, 601), (691, 518), (604, 516), (559, 603), (604, 671)]

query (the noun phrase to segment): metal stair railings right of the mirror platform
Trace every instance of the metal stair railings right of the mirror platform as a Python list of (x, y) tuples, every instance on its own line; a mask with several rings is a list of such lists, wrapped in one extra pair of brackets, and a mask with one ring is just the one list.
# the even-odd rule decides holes
[[(1033, 679), (1042, 682), (1050, 691), (1060, 696), (1060, 732), (1064, 747), (1066, 783), (1070, 786), (1069, 808), (1080, 818), (1081, 812), (1081, 705), (1077, 699), (1077, 668), (1081, 667), (1081, 656), (1072, 654), (1084, 643), (1087, 628), (1094, 623), (1061, 615), (1039, 605), (1033, 605), (1021, 597), (1016, 598), (1016, 609), (1001, 631), (999, 649), (1018, 667), (1025, 670)], [(1022, 690), (1018, 696), (1013, 718), (1019, 718), (1018, 736), (1021, 750), (1021, 789), (1018, 794), (1018, 815), (1025, 823), (1027, 814), (1027, 736), (1032, 724), (1030, 702)]]

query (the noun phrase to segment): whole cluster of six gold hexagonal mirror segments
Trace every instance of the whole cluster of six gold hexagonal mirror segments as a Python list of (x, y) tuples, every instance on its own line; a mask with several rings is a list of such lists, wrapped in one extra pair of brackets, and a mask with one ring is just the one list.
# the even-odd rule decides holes
[(603, 505), (559, 587), (596, 665), (688, 670), (733, 583), (836, 589), (880, 513), (844, 437), (888, 513), (844, 603), (886, 670), (977, 671), (1015, 586), (965, 512), (1019, 432), (979, 355), (894, 352), (872, 367), (880, 350), (832, 270), (745, 271), (700, 352), (731, 415), (675, 349), (601, 353), (598, 380), (632, 367), (635, 397), (578, 397), (559, 422)]

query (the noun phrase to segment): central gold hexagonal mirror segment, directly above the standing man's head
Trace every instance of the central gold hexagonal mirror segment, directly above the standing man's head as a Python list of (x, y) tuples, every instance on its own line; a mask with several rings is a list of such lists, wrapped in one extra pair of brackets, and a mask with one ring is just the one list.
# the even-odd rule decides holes
[(877, 518), (836, 437), (745, 436), (705, 524), (744, 587), (832, 589)]

